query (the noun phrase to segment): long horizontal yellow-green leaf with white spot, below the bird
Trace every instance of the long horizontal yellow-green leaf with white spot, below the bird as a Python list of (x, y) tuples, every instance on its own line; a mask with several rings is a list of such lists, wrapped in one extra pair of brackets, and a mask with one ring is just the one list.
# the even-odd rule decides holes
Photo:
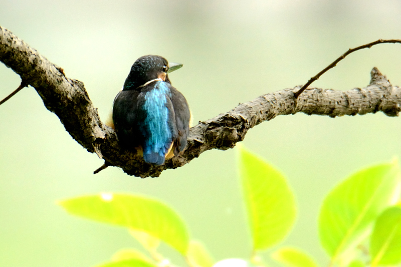
[(115, 225), (140, 229), (185, 254), (188, 231), (179, 215), (163, 202), (144, 196), (102, 193), (60, 202), (69, 213)]

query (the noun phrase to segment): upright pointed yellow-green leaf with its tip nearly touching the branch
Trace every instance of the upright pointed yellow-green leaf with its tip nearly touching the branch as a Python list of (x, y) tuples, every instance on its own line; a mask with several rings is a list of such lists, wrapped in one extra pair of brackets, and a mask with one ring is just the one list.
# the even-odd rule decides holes
[(285, 177), (244, 148), (240, 148), (240, 176), (254, 250), (279, 243), (296, 217), (295, 197)]

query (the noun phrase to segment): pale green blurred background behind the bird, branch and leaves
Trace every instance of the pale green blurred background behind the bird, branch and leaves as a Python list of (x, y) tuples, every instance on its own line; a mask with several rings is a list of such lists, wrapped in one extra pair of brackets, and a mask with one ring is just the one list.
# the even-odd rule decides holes
[[(398, 0), (0, 0), (0, 25), (84, 82), (103, 120), (142, 55), (184, 64), (170, 79), (197, 122), (304, 84), (348, 48), (401, 38), (400, 16)], [(372, 67), (400, 86), (399, 62), (399, 44), (378, 45), (351, 54), (314, 86), (364, 87)], [(0, 64), (0, 98), (19, 84)], [(208, 151), (159, 178), (130, 177), (115, 167), (93, 175), (102, 160), (70, 137), (33, 88), (0, 106), (0, 122), (0, 266), (87, 267), (138, 247), (123, 228), (70, 216), (56, 204), (98, 192), (160, 198), (216, 259), (249, 257), (236, 149)], [(280, 116), (250, 130), (243, 144), (280, 168), (297, 195), (298, 219), (283, 244), (325, 265), (317, 235), (324, 195), (353, 171), (401, 156), (400, 132), (400, 119), (381, 113)], [(181, 263), (171, 249), (163, 251)]]

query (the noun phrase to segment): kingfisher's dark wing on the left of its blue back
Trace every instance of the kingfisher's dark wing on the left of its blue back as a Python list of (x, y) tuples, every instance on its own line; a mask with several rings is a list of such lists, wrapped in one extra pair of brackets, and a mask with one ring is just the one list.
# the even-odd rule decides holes
[(138, 108), (139, 94), (140, 92), (135, 90), (121, 91), (113, 103), (113, 123), (118, 141), (122, 148), (130, 151), (134, 151), (135, 147), (143, 143), (138, 123), (144, 120), (145, 114)]

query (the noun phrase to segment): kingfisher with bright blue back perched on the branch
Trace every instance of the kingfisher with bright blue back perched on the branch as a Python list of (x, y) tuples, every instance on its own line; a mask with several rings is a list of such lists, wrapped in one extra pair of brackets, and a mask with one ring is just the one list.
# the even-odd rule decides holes
[(189, 107), (168, 78), (182, 66), (160, 56), (140, 57), (114, 99), (112, 119), (119, 145), (142, 151), (146, 163), (162, 165), (185, 149)]

